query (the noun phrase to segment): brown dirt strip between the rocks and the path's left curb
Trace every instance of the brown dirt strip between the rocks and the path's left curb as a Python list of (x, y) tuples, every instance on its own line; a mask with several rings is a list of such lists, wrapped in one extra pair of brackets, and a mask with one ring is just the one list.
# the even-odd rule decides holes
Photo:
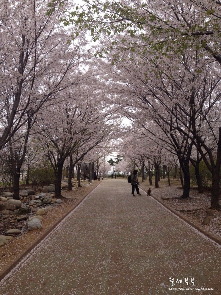
[(76, 191), (63, 191), (65, 197), (61, 206), (54, 207), (44, 215), (39, 230), (26, 230), (19, 236), (15, 236), (8, 244), (0, 248), (0, 273), (4, 272), (18, 257), (22, 255), (35, 241), (50, 229), (62, 216), (68, 213), (79, 201), (90, 193), (100, 182), (93, 182), (90, 187), (82, 187)]

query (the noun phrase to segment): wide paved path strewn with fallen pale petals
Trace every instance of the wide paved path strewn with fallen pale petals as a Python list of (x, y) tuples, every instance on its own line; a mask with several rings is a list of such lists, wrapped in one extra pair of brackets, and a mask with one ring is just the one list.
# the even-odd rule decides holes
[[(101, 182), (10, 274), (0, 294), (220, 294), (220, 247), (130, 189), (125, 180)], [(169, 290), (202, 287), (214, 291)]]

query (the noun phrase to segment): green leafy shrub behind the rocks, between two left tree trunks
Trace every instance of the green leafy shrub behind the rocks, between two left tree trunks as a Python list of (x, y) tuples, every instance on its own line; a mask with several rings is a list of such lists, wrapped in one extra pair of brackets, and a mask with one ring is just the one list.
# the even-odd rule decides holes
[(54, 183), (54, 170), (49, 163), (46, 163), (43, 167), (35, 167), (30, 170), (30, 180), (35, 186), (48, 185)]

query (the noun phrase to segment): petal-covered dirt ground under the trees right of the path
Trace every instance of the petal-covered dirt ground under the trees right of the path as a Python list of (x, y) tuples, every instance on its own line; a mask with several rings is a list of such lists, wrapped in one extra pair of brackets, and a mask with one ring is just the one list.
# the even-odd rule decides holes
[[(214, 235), (221, 240), (221, 212), (212, 210), (213, 217), (209, 225), (202, 225), (204, 218), (208, 215), (208, 209), (211, 205), (211, 192), (205, 189), (203, 193), (198, 193), (197, 188), (190, 189), (190, 198), (185, 200), (174, 200), (173, 197), (182, 195), (182, 187), (178, 180), (171, 180), (171, 185), (168, 185), (167, 178), (161, 179), (159, 188), (155, 188), (154, 178), (153, 185), (149, 185), (149, 180), (141, 182), (140, 186), (145, 191), (151, 188), (151, 195), (161, 200), (173, 210), (183, 215), (192, 223), (200, 226), (204, 231)], [(221, 199), (220, 199), (221, 203)]]

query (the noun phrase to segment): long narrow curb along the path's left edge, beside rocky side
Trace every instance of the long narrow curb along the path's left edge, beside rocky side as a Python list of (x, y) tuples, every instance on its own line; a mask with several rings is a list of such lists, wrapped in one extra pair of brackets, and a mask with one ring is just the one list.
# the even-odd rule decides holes
[[(98, 183), (98, 185), (101, 184), (101, 181)], [(95, 188), (98, 187), (98, 185), (95, 186)], [(31, 244), (31, 246), (29, 246), (28, 249), (25, 250), (25, 252), (23, 252), (5, 271), (1, 272), (0, 273), (0, 282), (1, 280), (4, 279), (4, 277), (7, 276), (7, 274), (10, 273), (10, 271), (12, 271), (12, 269), (14, 269), (18, 263), (21, 262), (21, 260), (26, 256), (28, 255), (44, 238), (46, 238), (46, 236), (52, 232), (52, 230), (55, 229), (55, 227), (57, 227), (57, 225), (65, 218), (67, 217), (76, 207), (78, 207), (81, 202), (84, 201), (84, 199), (90, 194), (92, 193), (95, 188), (93, 188), (92, 191), (90, 191), (89, 193), (86, 194), (86, 196), (84, 196), (83, 199), (81, 199), (76, 205), (74, 205), (74, 207), (72, 207), (67, 213), (65, 213), (64, 216), (62, 216), (56, 223), (54, 223), (42, 236), (40, 236), (40, 238), (37, 239), (37, 241), (35, 241), (33, 244)]]

